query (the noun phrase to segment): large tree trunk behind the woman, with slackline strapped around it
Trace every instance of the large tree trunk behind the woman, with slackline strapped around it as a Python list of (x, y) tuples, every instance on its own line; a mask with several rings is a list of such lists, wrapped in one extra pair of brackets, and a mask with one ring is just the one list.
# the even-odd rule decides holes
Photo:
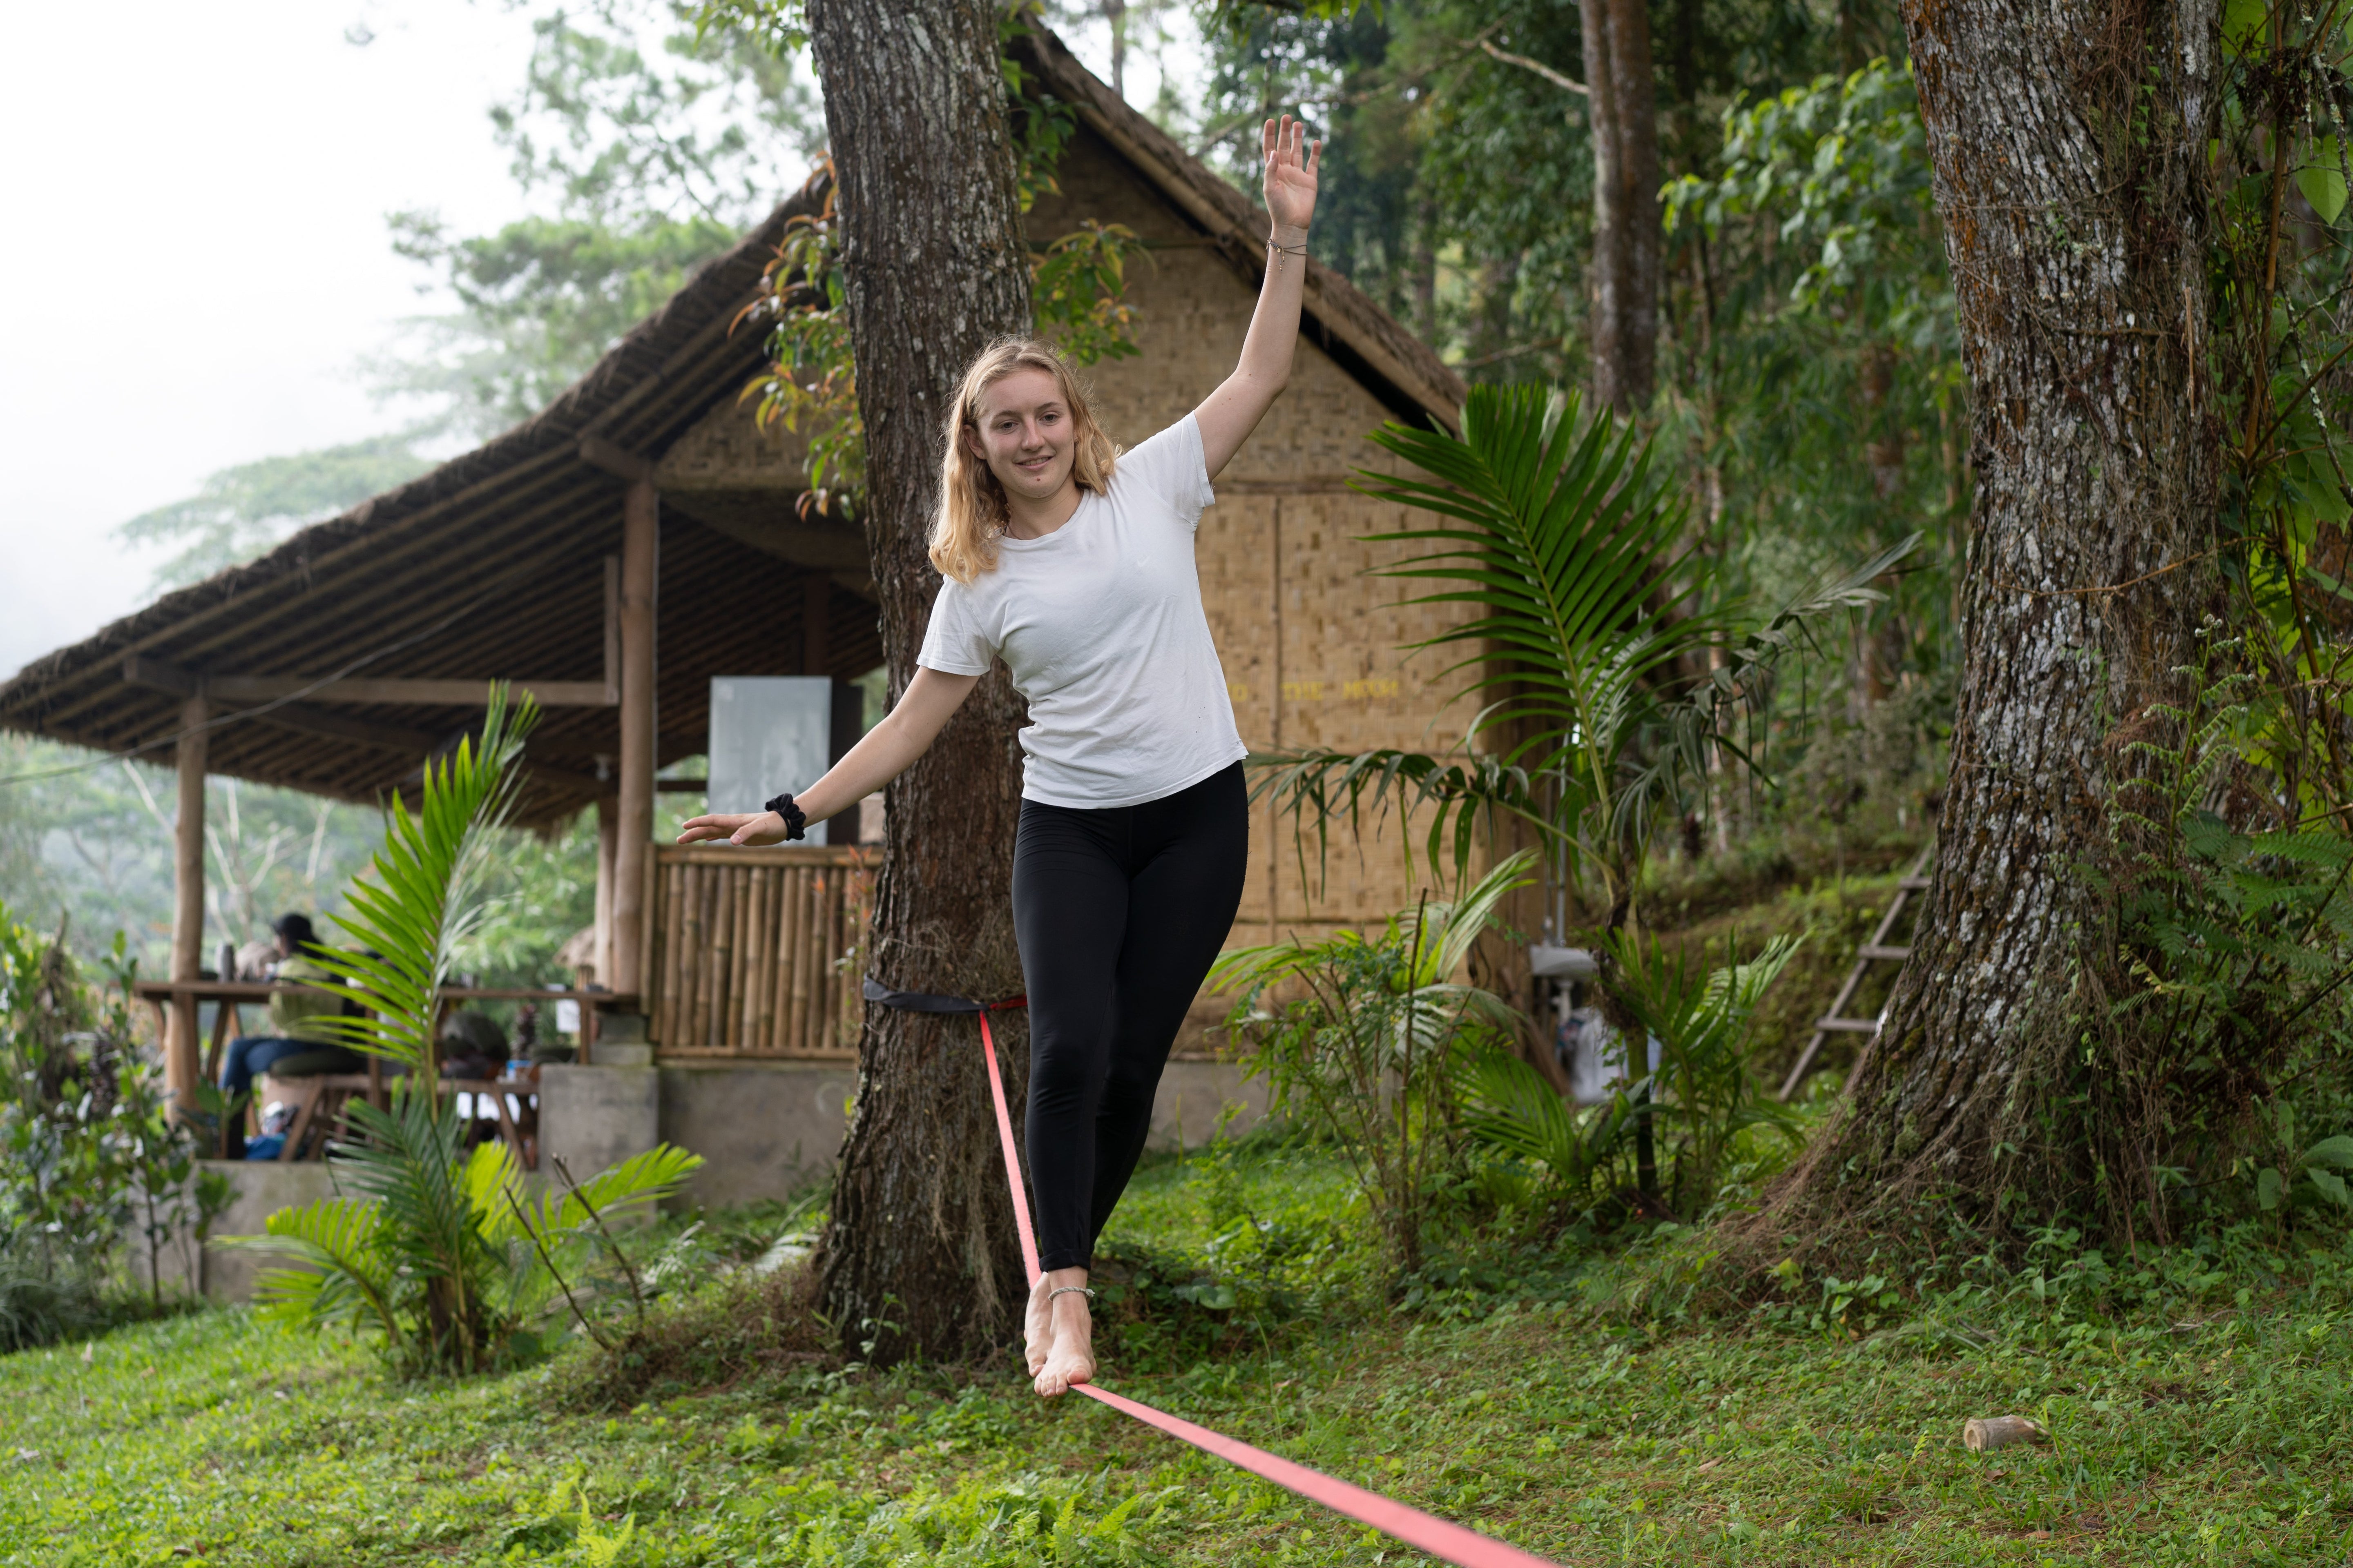
[[(998, 24), (988, 0), (812, 0), (809, 40), (840, 179), (866, 543), (896, 701), (939, 590), (925, 541), (958, 381), (991, 339), (1031, 327)], [(1009, 907), (1021, 717), (998, 670), (889, 788), (868, 945), (885, 985), (1021, 990)], [(1026, 1030), (1000, 1034), (1019, 1105)], [(1024, 1288), (974, 1020), (868, 1009), (824, 1309), (868, 1359), (962, 1359), (1019, 1324)]]

